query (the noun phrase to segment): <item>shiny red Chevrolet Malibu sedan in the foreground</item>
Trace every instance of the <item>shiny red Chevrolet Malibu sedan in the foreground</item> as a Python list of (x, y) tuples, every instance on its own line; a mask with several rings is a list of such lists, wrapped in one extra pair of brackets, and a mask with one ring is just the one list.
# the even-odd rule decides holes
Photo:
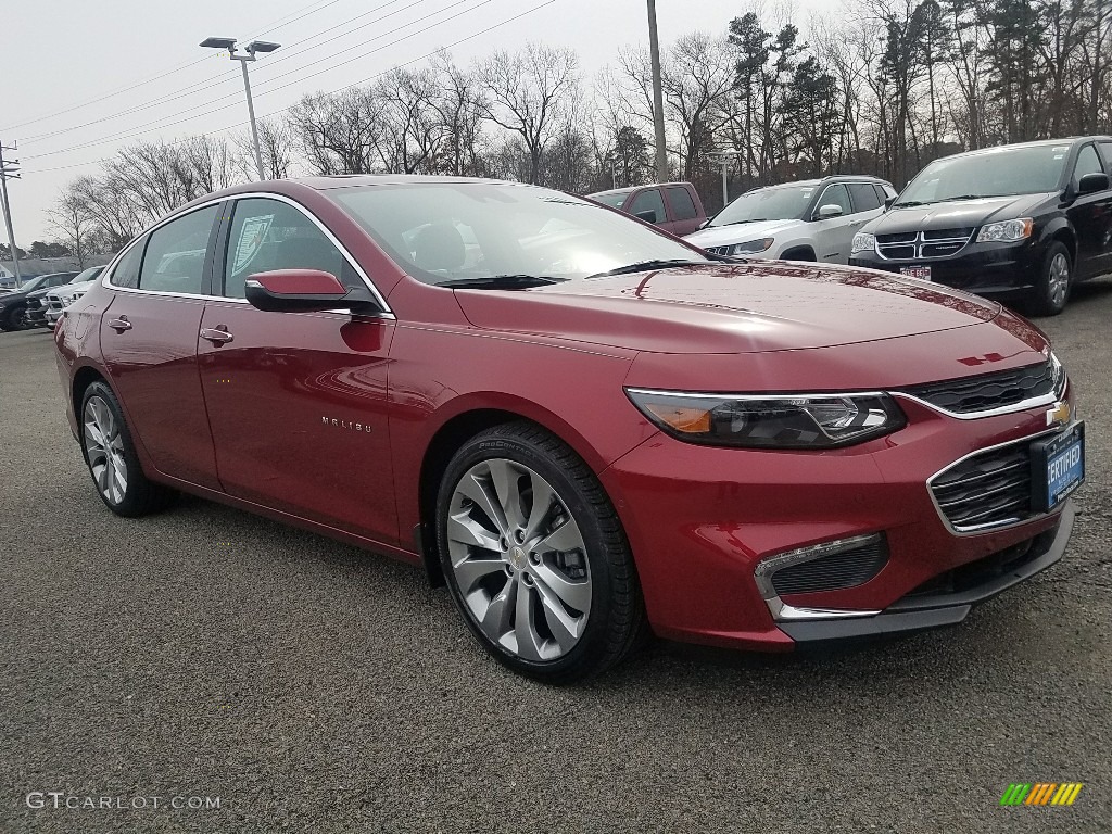
[(957, 623), (1061, 558), (1084, 476), (1066, 374), (1000, 305), (517, 183), (215, 193), (56, 341), (113, 513), (183, 490), (424, 565), (552, 682), (648, 631), (786, 651)]

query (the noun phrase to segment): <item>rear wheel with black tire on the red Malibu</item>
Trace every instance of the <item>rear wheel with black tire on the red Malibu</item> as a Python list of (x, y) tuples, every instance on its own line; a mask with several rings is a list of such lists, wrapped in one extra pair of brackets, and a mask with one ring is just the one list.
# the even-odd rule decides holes
[(81, 454), (105, 505), (118, 516), (155, 513), (175, 492), (148, 479), (112, 389), (93, 383), (81, 398)]

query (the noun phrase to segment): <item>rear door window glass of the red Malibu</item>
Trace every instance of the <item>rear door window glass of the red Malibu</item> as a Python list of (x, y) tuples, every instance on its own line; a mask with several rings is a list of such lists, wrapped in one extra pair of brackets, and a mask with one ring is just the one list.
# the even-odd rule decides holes
[(201, 291), (205, 252), (218, 209), (209, 206), (190, 211), (151, 232), (139, 270), (139, 289), (193, 295)]

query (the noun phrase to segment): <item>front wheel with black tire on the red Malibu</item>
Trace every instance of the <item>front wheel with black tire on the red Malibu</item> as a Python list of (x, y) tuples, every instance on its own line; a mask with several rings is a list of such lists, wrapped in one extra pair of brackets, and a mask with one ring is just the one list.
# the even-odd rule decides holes
[(476, 435), (437, 498), (453, 600), (500, 663), (569, 683), (618, 663), (645, 628), (633, 555), (602, 485), (529, 423)]

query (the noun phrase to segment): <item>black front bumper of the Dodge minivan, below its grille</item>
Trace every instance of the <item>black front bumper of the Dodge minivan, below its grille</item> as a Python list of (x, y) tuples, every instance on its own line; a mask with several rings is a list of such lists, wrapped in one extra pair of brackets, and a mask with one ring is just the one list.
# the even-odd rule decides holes
[(951, 258), (882, 258), (875, 251), (857, 252), (850, 265), (898, 272), (905, 267), (930, 267), (931, 280), (982, 296), (1012, 297), (1039, 282), (1045, 250), (1036, 244), (969, 244)]

